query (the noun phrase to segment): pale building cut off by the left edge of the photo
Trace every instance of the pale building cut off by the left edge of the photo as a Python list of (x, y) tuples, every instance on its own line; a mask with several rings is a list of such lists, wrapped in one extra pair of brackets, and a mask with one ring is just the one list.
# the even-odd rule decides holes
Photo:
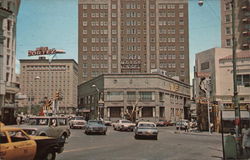
[(15, 122), (16, 18), (19, 0), (0, 0), (0, 121)]

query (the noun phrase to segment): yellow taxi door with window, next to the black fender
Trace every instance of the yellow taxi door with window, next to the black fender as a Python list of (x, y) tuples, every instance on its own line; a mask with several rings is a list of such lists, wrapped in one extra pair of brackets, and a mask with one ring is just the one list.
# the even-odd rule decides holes
[(36, 154), (36, 142), (31, 140), (22, 130), (8, 131), (12, 148), (12, 158), (32, 160)]

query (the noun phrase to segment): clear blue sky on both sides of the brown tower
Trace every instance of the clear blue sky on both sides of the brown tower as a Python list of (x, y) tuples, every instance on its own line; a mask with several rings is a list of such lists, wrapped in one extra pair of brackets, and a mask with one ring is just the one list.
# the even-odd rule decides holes
[[(195, 54), (221, 46), (220, 0), (189, 0), (190, 77)], [(16, 55), (28, 59), (38, 47), (63, 49), (54, 59), (78, 59), (78, 0), (21, 0), (17, 16)]]

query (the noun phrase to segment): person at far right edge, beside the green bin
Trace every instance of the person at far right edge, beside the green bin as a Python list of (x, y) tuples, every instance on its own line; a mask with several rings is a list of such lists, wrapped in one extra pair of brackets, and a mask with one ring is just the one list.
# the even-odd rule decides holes
[(250, 156), (250, 129), (246, 124), (244, 124), (244, 128), (242, 129), (242, 147), (245, 155), (247, 157)]

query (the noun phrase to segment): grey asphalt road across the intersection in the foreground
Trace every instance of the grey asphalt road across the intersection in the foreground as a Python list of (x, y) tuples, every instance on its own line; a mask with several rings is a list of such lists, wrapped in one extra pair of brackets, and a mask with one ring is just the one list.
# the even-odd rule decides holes
[(174, 132), (173, 127), (159, 129), (158, 140), (135, 140), (133, 132), (108, 128), (107, 135), (85, 135), (72, 129), (60, 160), (219, 160), (221, 137)]

